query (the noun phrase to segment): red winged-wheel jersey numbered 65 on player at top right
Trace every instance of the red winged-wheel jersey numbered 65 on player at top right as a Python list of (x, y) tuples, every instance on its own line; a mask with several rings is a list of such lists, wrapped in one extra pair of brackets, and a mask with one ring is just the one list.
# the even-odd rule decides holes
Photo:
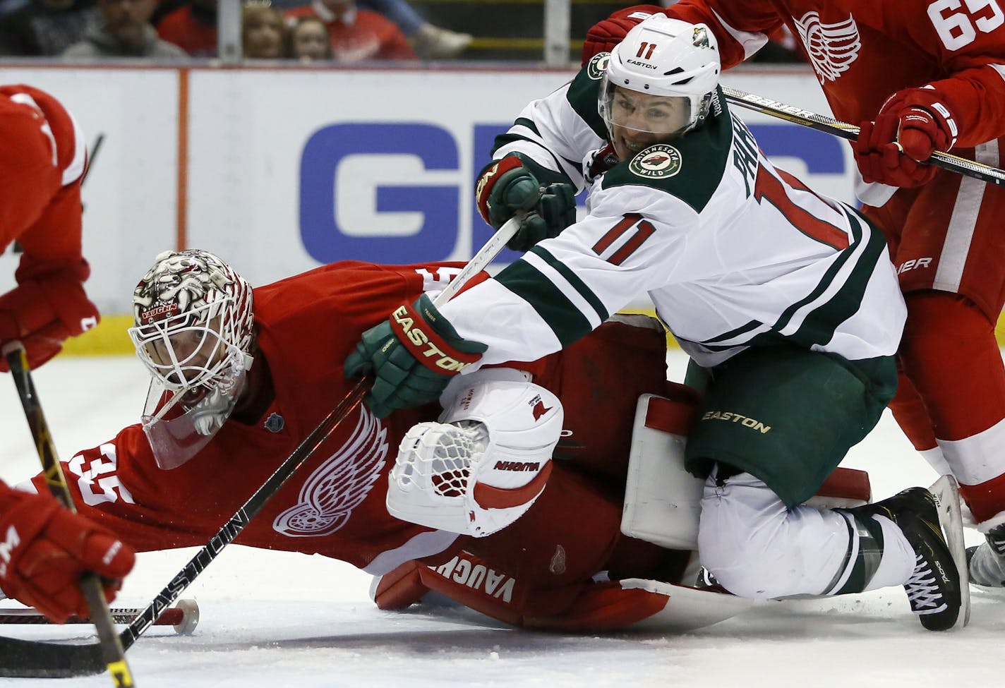
[(712, 26), (724, 68), (788, 26), (838, 120), (872, 120), (894, 91), (931, 83), (956, 114), (958, 148), (1005, 135), (1005, 12), (998, 0), (680, 0), (665, 13)]

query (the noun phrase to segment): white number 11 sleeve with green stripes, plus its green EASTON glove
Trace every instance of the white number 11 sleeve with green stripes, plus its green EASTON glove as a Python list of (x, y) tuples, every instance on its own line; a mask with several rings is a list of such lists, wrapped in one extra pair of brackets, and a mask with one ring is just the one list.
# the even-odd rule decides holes
[(371, 410), (384, 417), (427, 404), (462, 371), (555, 353), (636, 294), (672, 279), (693, 209), (670, 194), (639, 188), (639, 202), (653, 214), (625, 212), (621, 190), (595, 194), (586, 219), (441, 307), (421, 297), (364, 332), (345, 371), (351, 378), (372, 376)]

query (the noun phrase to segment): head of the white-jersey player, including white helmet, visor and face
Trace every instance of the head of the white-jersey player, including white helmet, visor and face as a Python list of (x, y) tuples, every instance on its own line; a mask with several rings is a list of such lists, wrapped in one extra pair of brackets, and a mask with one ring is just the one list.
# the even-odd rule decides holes
[(721, 68), (705, 24), (656, 14), (634, 26), (611, 51), (597, 103), (615, 150), (619, 129), (631, 155), (694, 129), (709, 116)]

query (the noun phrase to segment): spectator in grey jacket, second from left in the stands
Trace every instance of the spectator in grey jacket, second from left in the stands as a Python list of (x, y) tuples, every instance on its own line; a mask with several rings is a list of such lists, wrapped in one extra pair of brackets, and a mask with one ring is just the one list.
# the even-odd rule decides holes
[(174, 43), (158, 38), (150, 23), (154, 0), (99, 0), (98, 7), (102, 24), (88, 28), (83, 40), (66, 48), (63, 57), (188, 57)]

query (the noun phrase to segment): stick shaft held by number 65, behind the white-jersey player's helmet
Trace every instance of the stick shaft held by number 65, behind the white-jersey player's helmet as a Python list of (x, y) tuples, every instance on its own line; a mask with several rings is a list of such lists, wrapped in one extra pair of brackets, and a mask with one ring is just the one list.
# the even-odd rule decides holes
[[(771, 117), (796, 125), (802, 125), (803, 127), (809, 127), (818, 132), (847, 139), (848, 141), (858, 139), (858, 127), (854, 125), (838, 122), (837, 120), (817, 114), (802, 107), (788, 105), (778, 100), (772, 100), (771, 98), (748, 93), (737, 88), (730, 88), (729, 86), (723, 86), (723, 93), (726, 94), (727, 100), (741, 107), (746, 107), (763, 114), (770, 114)], [(960, 158), (949, 153), (936, 151), (925, 163), (966, 177), (973, 177), (988, 184), (1005, 186), (1005, 170), (1000, 170), (990, 165), (982, 165), (973, 160)]]

